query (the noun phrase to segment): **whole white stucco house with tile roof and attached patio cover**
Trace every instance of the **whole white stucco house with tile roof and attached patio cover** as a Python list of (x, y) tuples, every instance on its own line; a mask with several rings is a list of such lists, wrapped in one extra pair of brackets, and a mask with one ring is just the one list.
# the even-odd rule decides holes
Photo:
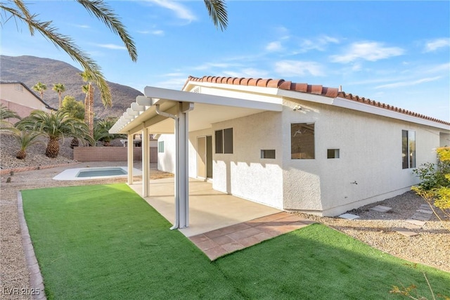
[(188, 226), (188, 176), (278, 209), (336, 216), (410, 190), (413, 168), (450, 145), (449, 122), (320, 85), (189, 77), (182, 91), (144, 91), (111, 131), (158, 134), (158, 169), (178, 181), (179, 228)]

